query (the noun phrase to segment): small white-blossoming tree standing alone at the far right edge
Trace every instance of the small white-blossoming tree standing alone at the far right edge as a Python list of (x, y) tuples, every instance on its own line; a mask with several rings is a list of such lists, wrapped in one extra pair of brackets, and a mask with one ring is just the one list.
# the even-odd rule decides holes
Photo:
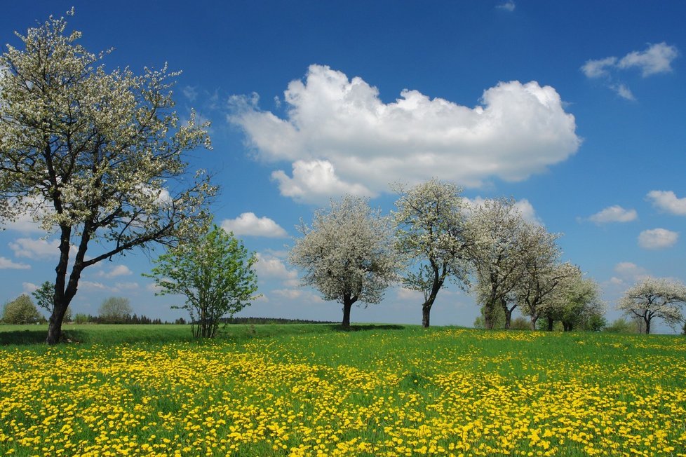
[(650, 333), (654, 318), (675, 326), (683, 320), (681, 306), (686, 303), (686, 286), (676, 280), (645, 278), (628, 289), (617, 303), (624, 314), (643, 320), (645, 333)]

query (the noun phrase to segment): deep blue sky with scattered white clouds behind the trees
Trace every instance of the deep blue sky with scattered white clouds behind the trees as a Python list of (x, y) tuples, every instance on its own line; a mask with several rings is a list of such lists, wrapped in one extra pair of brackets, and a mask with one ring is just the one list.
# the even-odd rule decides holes
[[(108, 68), (180, 69), (175, 100), (212, 121), (215, 221), (260, 255), (264, 297), (241, 315), (339, 320), (285, 261), (295, 225), (343, 192), (384, 211), (389, 182), (432, 176), (467, 198), (513, 196), (562, 232), (564, 259), (614, 302), (643, 275), (686, 281), (686, 34), (682, 1), (32, 1), (4, 6), (0, 41), (64, 15)], [(95, 248), (94, 248), (95, 249)], [(0, 300), (53, 279), (57, 249), (31, 224), (0, 232)], [(76, 312), (107, 296), (173, 319), (149, 259), (83, 274)], [(177, 300), (176, 300), (177, 301)], [(420, 322), (398, 287), (357, 322)], [(478, 308), (449, 287), (435, 325)], [(662, 331), (668, 331), (661, 328)]]

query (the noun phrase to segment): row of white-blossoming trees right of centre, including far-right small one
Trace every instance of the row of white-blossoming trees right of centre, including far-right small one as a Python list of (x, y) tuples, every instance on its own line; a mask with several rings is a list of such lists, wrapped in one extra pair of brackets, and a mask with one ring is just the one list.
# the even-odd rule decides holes
[[(389, 216), (363, 198), (345, 196), (316, 211), (311, 226), (299, 227), (302, 238), (290, 262), (304, 271), (303, 285), (342, 303), (343, 327), (350, 325), (354, 303), (379, 303), (394, 282), (424, 294), (422, 325), (429, 327), (431, 307), (448, 280), (476, 292), (487, 329), (501, 317), (509, 329), (517, 308), (532, 329), (551, 330), (555, 322), (565, 331), (605, 324), (598, 284), (563, 262), (560, 234), (525, 220), (514, 200), (471, 203), (455, 184), (437, 179), (395, 190), (400, 196)], [(654, 318), (680, 322), (685, 302), (679, 282), (647, 278), (626, 292), (618, 308), (642, 319), (650, 333)]]

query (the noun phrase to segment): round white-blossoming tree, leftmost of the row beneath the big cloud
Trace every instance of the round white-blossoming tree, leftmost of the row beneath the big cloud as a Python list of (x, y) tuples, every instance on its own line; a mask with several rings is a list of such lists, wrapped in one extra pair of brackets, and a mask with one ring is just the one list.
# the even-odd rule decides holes
[(379, 303), (398, 279), (391, 221), (364, 198), (345, 196), (332, 201), (330, 210), (316, 211), (311, 227), (299, 229), (303, 236), (295, 240), (290, 263), (304, 270), (303, 285), (343, 304), (342, 327), (348, 329), (353, 304)]

